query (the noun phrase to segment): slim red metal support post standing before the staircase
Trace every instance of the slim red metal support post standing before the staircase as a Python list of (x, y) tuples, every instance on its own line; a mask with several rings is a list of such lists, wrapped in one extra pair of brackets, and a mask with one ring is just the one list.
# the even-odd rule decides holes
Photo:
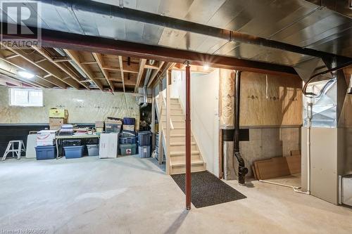
[(191, 67), (186, 67), (186, 209), (191, 209)]

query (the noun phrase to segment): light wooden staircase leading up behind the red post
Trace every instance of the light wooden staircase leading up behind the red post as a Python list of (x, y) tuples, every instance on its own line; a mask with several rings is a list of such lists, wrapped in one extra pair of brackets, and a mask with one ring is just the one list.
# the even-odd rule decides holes
[[(161, 124), (163, 131), (163, 147), (169, 160), (167, 167), (170, 168), (170, 174), (182, 174), (186, 172), (186, 123), (184, 121), (184, 112), (178, 98), (170, 98), (170, 136), (167, 136), (166, 126), (167, 126), (167, 113), (165, 98), (163, 98), (163, 110), (161, 111)], [(158, 109), (159, 110), (159, 109)], [(169, 141), (166, 141), (169, 138)], [(169, 145), (166, 144), (169, 142)], [(165, 148), (170, 147), (169, 151)], [(191, 133), (191, 171), (206, 171), (206, 162), (204, 162), (201, 152), (196, 143), (196, 139)]]

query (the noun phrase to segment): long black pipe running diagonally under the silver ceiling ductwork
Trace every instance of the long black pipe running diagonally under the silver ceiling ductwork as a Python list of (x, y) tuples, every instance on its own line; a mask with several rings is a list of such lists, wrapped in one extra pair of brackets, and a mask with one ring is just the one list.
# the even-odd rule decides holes
[[(244, 44), (255, 44), (258, 46), (277, 48), (284, 51), (291, 51), (294, 53), (301, 53), (307, 56), (315, 56), (319, 58), (332, 58), (336, 56), (332, 53), (316, 51), (312, 48), (302, 48), (301, 46), (294, 46), (281, 41), (265, 39), (263, 37), (255, 37), (255, 36), (244, 34), (237, 31), (224, 30), (219, 27), (211, 27), (211, 26), (202, 25), (196, 22), (190, 22), (187, 20), (171, 18), (165, 15), (139, 11), (131, 8), (122, 8), (120, 6), (114, 6), (110, 4), (103, 4), (98, 1), (81, 1), (81, 0), (70, 0), (70, 1), (40, 0), (40, 1), (54, 6), (71, 8), (73, 13), (80, 12), (80, 11), (98, 13), (100, 15), (108, 15), (108, 16), (117, 17), (117, 18), (124, 18), (127, 20), (145, 22), (151, 25), (159, 25), (161, 27), (168, 27), (175, 30), (194, 32), (197, 34), (203, 34), (211, 37), (225, 39), (228, 41), (237, 41)], [(336, 57), (339, 57), (341, 61), (351, 60), (351, 58), (347, 58), (344, 56), (336, 56)]]

